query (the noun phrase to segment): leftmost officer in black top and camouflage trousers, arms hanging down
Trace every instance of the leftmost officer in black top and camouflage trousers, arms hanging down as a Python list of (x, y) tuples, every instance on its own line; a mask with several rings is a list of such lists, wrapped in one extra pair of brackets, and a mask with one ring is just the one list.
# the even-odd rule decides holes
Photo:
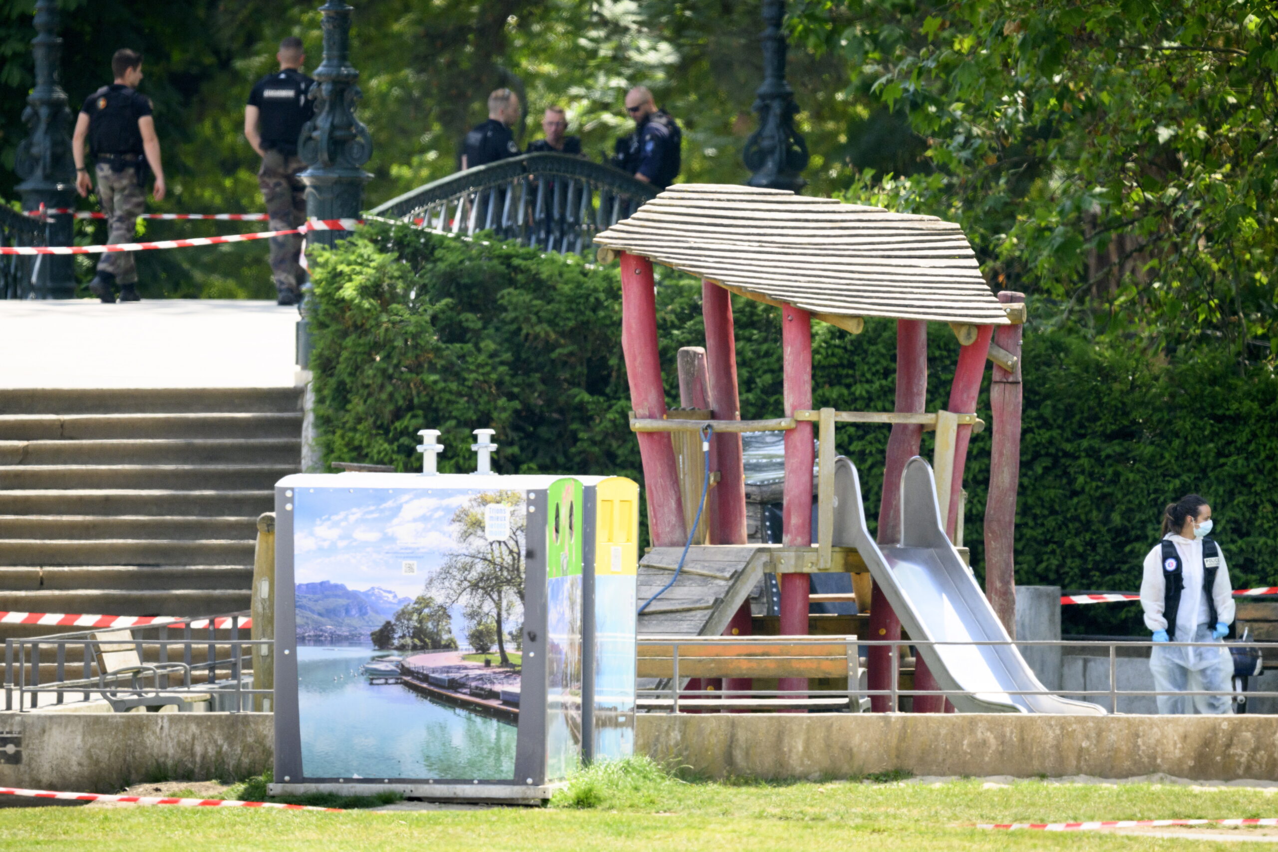
[[(115, 82), (88, 96), (75, 119), (72, 156), (75, 160), (75, 189), (88, 195), (93, 184), (84, 165), (84, 141), (88, 139), (97, 175), (97, 199), (107, 218), (107, 243), (133, 243), (138, 232), (138, 216), (146, 209), (142, 190), (147, 165), (155, 174), (152, 197), (164, 201), (164, 166), (160, 162), (160, 139), (156, 138), (151, 101), (139, 95), (142, 54), (121, 47), (111, 57)], [(104, 253), (97, 262), (97, 275), (89, 291), (104, 303), (138, 301), (138, 268), (132, 252)]]

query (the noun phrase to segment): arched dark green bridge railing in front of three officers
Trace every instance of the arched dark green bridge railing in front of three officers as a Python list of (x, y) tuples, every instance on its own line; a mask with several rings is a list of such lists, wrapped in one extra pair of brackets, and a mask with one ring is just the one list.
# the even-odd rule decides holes
[(459, 171), (369, 211), (440, 231), (493, 231), (548, 252), (581, 254), (657, 188), (562, 153), (525, 153)]

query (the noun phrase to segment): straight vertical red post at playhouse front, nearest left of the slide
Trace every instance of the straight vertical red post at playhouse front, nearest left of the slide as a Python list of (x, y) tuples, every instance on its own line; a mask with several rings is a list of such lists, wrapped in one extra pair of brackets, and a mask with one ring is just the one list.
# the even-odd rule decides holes
[[(792, 305), (781, 308), (781, 350), (786, 416), (812, 407), (812, 317)], [(812, 423), (800, 422), (786, 432), (786, 484), (781, 508), (781, 538), (786, 547), (812, 547)], [(781, 575), (781, 635), (808, 635), (806, 574)], [(780, 690), (803, 690), (805, 677), (782, 677)]]

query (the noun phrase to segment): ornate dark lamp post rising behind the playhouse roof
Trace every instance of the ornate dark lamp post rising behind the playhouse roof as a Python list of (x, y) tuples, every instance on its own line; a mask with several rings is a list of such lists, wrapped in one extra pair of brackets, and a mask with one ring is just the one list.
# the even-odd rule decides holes
[(785, 14), (783, 0), (763, 0), (763, 86), (754, 96), (759, 128), (745, 142), (744, 160), (750, 186), (799, 192), (808, 183), (800, 176), (808, 167), (808, 143), (794, 125), (799, 105), (786, 82)]

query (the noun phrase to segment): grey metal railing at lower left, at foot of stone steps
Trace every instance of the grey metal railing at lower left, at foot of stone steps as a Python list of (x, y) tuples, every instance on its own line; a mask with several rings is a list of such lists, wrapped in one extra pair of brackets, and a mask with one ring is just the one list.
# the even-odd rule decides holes
[[(176, 618), (162, 623), (95, 627), (66, 634), (33, 636), (31, 639), (5, 639), (5, 710), (17, 709), (18, 711), (27, 713), (42, 709), (42, 706), (50, 706), (40, 704), (41, 695), (52, 695), (54, 703), (51, 706), (58, 706), (65, 703), (68, 695), (74, 694), (79, 694), (82, 701), (89, 701), (91, 695), (96, 695), (100, 699), (119, 700), (121, 697), (146, 697), (155, 695), (157, 691), (207, 692), (216, 690), (219, 683), (224, 683), (227, 687), (233, 687), (227, 688), (227, 692), (234, 695), (231, 711), (243, 711), (245, 704), (244, 696), (273, 694), (273, 690), (254, 690), (243, 686), (243, 674), (252, 671), (252, 648), (256, 645), (268, 646), (275, 644), (271, 639), (240, 639), (239, 632), (248, 630), (240, 626), (240, 623), (248, 617), (248, 612), (235, 612), (224, 616)], [(217, 627), (217, 623), (222, 620), (229, 620), (229, 626)], [(207, 627), (192, 627), (192, 623), (203, 621), (207, 621)], [(110, 672), (101, 671), (101, 664), (97, 659), (98, 646), (102, 644), (127, 644), (124, 640), (112, 641), (96, 637), (96, 634), (112, 630), (130, 631), (132, 639), (129, 641), (137, 649), (138, 666), (127, 666)], [(166, 639), (165, 634), (170, 630), (180, 630), (181, 637)], [(219, 631), (229, 631), (230, 636), (219, 637)], [(155, 632), (156, 635), (147, 636), (146, 634), (148, 632)], [(198, 634), (204, 635), (201, 636)], [(68, 678), (66, 648), (77, 645), (81, 648), (82, 671), (79, 672), (79, 677)], [(196, 645), (203, 645), (207, 649), (203, 663), (193, 662), (192, 648)], [(41, 682), (40, 673), (42, 646), (52, 646), (56, 651), (54, 680), (45, 683)], [(148, 646), (158, 648), (158, 662), (148, 663), (144, 659), (144, 649)], [(169, 659), (169, 649), (171, 646), (181, 649), (181, 662)], [(229, 655), (220, 658), (219, 653), (226, 649), (229, 649)], [(97, 677), (93, 677), (95, 668), (98, 669)], [(222, 681), (217, 680), (219, 669), (229, 672), (227, 677)], [(153, 687), (147, 687), (139, 682), (137, 676), (141, 671), (151, 672), (155, 676), (156, 682)], [(179, 672), (181, 683), (170, 683), (170, 678), (175, 677)], [(206, 674), (203, 683), (194, 682), (193, 676), (198, 673)], [(129, 685), (124, 686), (121, 681), (128, 681)], [(14, 694), (17, 694), (17, 708), (14, 708)]]

